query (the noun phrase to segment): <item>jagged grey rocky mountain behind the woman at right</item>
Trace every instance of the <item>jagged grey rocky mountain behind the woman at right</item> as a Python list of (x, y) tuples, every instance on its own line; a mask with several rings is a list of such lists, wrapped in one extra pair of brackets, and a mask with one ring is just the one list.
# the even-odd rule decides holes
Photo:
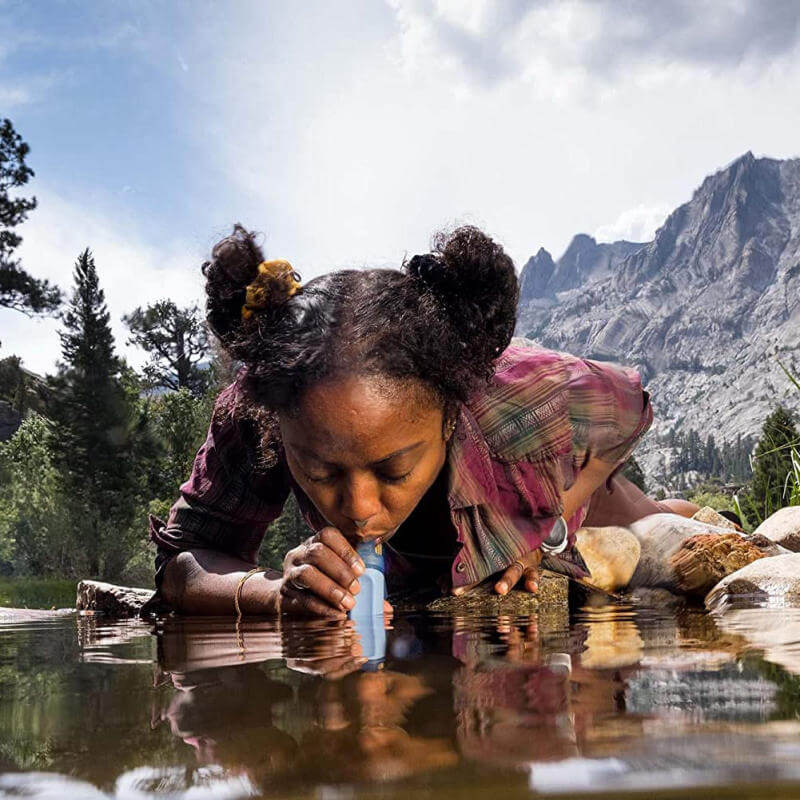
[(706, 178), (652, 242), (576, 236), (522, 270), (517, 334), (636, 367), (655, 420), (637, 451), (653, 475), (670, 428), (717, 443), (800, 408), (800, 159), (746, 153)]

